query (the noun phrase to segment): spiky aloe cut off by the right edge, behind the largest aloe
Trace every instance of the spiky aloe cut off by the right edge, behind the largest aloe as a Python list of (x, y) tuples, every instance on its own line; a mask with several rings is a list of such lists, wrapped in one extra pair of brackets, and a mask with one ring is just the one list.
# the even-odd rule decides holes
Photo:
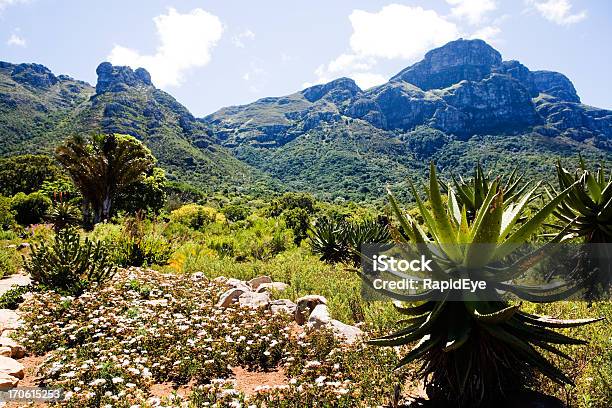
[(562, 223), (572, 222), (571, 232), (587, 243), (612, 242), (612, 172), (606, 175), (603, 165), (591, 171), (580, 158), (580, 166), (570, 173), (557, 162), (559, 187), (572, 186), (555, 216)]

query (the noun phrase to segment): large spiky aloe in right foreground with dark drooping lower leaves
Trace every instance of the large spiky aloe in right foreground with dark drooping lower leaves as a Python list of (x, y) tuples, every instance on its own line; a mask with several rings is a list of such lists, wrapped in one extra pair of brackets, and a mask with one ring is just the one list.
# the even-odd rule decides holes
[[(457, 271), (469, 274), (477, 270), (487, 275), (497, 289), (513, 292), (526, 300), (547, 302), (554, 298), (538, 293), (536, 288), (509, 283), (524, 271), (525, 265), (534, 262), (537, 253), (521, 257), (509, 266), (499, 266), (501, 260), (527, 242), (572, 187), (557, 194), (528, 220), (520, 222), (537, 188), (538, 185), (524, 191), (509, 203), (499, 180), (491, 181), (486, 196), (470, 220), (467, 205), (459, 206), (452, 188), (444, 202), (432, 163), (427, 189), (431, 211), (412, 186), (430, 235), (400, 209), (391, 192), (388, 196), (403, 236), (407, 237), (406, 242), (435, 248), (438, 255), (433, 273), (437, 277), (443, 279)], [(558, 242), (566, 232), (562, 231), (551, 242)], [(488, 250), (483, 251), (482, 245)], [(368, 282), (367, 276), (362, 277)], [(416, 342), (398, 368), (419, 360), (422, 364), (418, 373), (425, 381), (428, 396), (444, 406), (451, 405), (451, 401), (459, 406), (490, 404), (504, 393), (523, 389), (535, 370), (560, 384), (571, 384), (572, 380), (548, 361), (541, 350), (569, 358), (555, 345), (586, 342), (552, 329), (599, 320), (564, 321), (539, 317), (522, 312), (520, 305), (510, 304), (499, 296), (488, 301), (478, 298), (464, 298), (462, 302), (426, 300), (407, 306), (405, 302), (413, 301), (414, 296), (385, 293), (394, 299), (397, 310), (409, 318), (402, 321), (405, 327), (369, 343), (405, 346)]]

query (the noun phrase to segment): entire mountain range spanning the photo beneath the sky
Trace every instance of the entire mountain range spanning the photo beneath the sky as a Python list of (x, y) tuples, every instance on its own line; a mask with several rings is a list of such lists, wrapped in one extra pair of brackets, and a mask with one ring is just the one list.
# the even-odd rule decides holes
[(582, 104), (565, 75), (503, 61), (482, 40), (431, 50), (370, 89), (338, 78), (203, 118), (142, 68), (104, 62), (96, 72), (94, 88), (38, 64), (0, 63), (0, 155), (47, 148), (74, 132), (128, 133), (171, 178), (200, 187), (361, 200), (387, 183), (406, 191), (406, 178), (422, 177), (429, 160), (443, 172), (481, 160), (536, 173), (543, 165), (534, 158), (580, 152), (608, 160), (612, 151), (612, 111)]

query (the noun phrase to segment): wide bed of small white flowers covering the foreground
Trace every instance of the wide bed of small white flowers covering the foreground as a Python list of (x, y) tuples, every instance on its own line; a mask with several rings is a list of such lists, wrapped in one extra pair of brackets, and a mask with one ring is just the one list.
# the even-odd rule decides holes
[[(388, 401), (400, 376), (392, 351), (340, 344), (326, 331), (296, 332), (290, 316), (215, 307), (227, 288), (189, 276), (132, 268), (66, 297), (40, 292), (21, 306), (20, 341), (46, 355), (41, 385), (61, 387), (67, 407), (153, 404), (154, 384), (186, 385), (167, 406), (372, 406)], [(231, 368), (279, 370), (280, 387), (245, 396)], [(232, 405), (233, 404), (233, 405)], [(304, 405), (306, 404), (306, 405)]]

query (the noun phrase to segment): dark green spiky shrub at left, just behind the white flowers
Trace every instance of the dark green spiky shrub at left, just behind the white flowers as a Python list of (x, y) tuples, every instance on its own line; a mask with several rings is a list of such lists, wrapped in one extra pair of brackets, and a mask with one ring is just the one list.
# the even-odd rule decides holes
[(30, 259), (24, 258), (23, 266), (43, 288), (70, 295), (105, 282), (116, 270), (106, 245), (89, 238), (81, 242), (79, 233), (71, 228), (60, 230), (50, 245), (44, 241), (32, 245)]

